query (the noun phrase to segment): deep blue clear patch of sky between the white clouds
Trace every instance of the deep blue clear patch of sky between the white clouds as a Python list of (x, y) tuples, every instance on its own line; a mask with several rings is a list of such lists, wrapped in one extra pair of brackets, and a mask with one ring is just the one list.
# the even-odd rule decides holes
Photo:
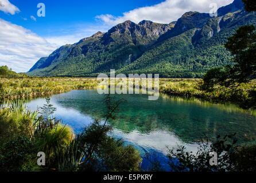
[[(20, 12), (10, 16), (10, 14), (0, 11), (0, 17), (30, 29), (42, 37), (47, 37), (69, 34), (72, 32), (72, 28), (79, 29), (95, 23), (99, 24), (95, 19), (97, 15), (111, 13), (119, 16), (123, 12), (138, 7), (152, 6), (162, 1), (10, 0), (9, 2), (17, 6)], [(37, 17), (38, 3), (45, 4), (45, 17)], [(30, 18), (31, 15), (36, 18), (36, 21)]]

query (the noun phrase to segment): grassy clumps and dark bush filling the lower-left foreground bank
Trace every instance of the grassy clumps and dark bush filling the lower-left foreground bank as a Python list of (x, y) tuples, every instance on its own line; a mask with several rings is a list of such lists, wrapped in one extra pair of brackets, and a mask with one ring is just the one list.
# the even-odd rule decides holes
[[(132, 146), (126, 146), (108, 134), (113, 116), (110, 108), (104, 123), (95, 120), (82, 133), (51, 117), (54, 108), (43, 108), (48, 116), (26, 110), (17, 101), (0, 109), (0, 172), (13, 171), (138, 171), (141, 157)], [(46, 154), (46, 166), (37, 165), (37, 153)]]

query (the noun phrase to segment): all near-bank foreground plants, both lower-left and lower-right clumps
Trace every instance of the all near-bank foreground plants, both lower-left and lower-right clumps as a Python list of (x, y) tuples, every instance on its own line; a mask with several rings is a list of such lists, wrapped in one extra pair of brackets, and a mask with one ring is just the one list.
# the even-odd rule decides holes
[[(109, 101), (109, 98), (106, 99)], [(49, 103), (47, 112), (54, 111)], [(37, 117), (26, 110), (21, 102), (0, 110), (0, 171), (138, 171), (140, 154), (121, 139), (109, 136), (111, 126), (106, 122), (113, 117), (116, 106), (108, 105), (104, 122), (96, 120), (73, 134), (72, 129), (55, 118)], [(234, 136), (208, 138), (199, 142), (197, 153), (184, 147), (169, 149), (168, 158), (172, 171), (230, 172), (256, 170), (256, 145), (237, 146)], [(38, 152), (45, 152), (46, 166), (36, 164)], [(210, 165), (210, 152), (218, 154), (218, 166)], [(152, 170), (164, 170), (157, 160)]]

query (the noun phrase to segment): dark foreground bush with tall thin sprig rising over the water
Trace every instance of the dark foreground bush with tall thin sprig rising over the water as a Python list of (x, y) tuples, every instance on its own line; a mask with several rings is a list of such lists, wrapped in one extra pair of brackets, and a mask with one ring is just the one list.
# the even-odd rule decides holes
[[(112, 101), (110, 95), (104, 99), (106, 116), (84, 128), (68, 146), (56, 149), (56, 162), (59, 171), (138, 171), (141, 156), (132, 146), (121, 139), (110, 137), (113, 119), (121, 101)], [(103, 122), (102, 122), (103, 120)]]

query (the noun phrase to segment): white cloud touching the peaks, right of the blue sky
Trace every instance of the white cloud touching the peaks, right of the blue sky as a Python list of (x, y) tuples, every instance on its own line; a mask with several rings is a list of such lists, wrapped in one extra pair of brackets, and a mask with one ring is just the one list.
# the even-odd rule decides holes
[(170, 23), (176, 21), (187, 11), (199, 11), (210, 13), (211, 3), (216, 3), (218, 8), (232, 3), (234, 0), (166, 0), (154, 6), (146, 6), (123, 13), (122, 16), (115, 17), (111, 14), (96, 16), (107, 25), (117, 25), (130, 20), (135, 23), (143, 19), (158, 23)]

